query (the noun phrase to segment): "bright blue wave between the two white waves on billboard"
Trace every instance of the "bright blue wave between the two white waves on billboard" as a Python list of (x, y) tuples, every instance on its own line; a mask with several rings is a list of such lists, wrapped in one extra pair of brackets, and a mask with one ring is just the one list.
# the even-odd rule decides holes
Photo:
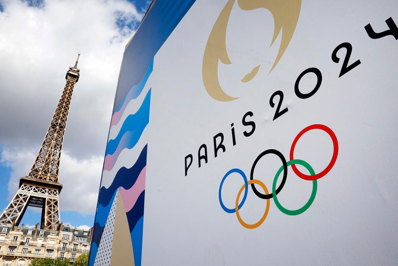
[(124, 148), (130, 147), (129, 149), (131, 149), (135, 146), (135, 144), (137, 144), (142, 132), (144, 131), (144, 128), (149, 122), (150, 92), (151, 90), (149, 90), (146, 94), (145, 99), (138, 111), (135, 114), (130, 114), (127, 116), (126, 120), (121, 126), (119, 134), (117, 134), (117, 137), (114, 140), (109, 140), (105, 156), (115, 153), (117, 147), (119, 146), (120, 140), (128, 131), (131, 131), (132, 135), (129, 138), (128, 143), (123, 144)]

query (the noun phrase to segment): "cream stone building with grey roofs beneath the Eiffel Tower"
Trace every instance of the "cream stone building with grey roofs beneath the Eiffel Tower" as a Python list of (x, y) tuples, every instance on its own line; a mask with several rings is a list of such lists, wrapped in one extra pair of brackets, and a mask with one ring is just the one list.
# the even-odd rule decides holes
[(0, 266), (28, 266), (33, 258), (70, 259), (90, 252), (92, 228), (82, 230), (64, 226), (43, 230), (0, 225)]

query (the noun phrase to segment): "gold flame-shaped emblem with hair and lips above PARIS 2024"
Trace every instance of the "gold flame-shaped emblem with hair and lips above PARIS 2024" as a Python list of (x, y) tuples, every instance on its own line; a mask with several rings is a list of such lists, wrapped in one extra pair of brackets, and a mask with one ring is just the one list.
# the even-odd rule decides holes
[[(205, 53), (203, 55), (203, 84), (205, 85), (207, 93), (213, 99), (220, 102), (228, 102), (238, 99), (224, 93), (220, 86), (218, 76), (219, 60), (226, 65), (232, 64), (226, 51), (225, 35), (234, 2), (235, 0), (228, 0), (222, 9), (213, 26), (213, 29), (210, 32), (209, 39), (206, 43)], [(281, 29), (283, 29), (281, 45), (279, 47), (275, 62), (269, 71), (269, 73), (271, 73), (281, 59), (283, 53), (289, 45), (293, 33), (295, 32), (298, 16), (300, 14), (301, 0), (237, 0), (237, 2), (238, 6), (242, 10), (248, 11), (258, 8), (265, 8), (271, 12), (275, 23), (275, 28), (270, 46), (273, 45), (274, 41), (281, 32)], [(251, 81), (258, 73), (259, 68), (260, 65), (254, 67), (254, 69), (242, 79), (242, 82)]]

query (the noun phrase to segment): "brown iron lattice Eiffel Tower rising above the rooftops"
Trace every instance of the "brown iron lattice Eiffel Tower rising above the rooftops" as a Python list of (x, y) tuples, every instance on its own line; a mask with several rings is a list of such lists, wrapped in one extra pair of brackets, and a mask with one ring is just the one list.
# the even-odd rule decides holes
[(60, 224), (58, 182), (59, 160), (70, 100), (75, 83), (79, 79), (77, 57), (74, 67), (66, 72), (66, 84), (59, 99), (49, 130), (29, 174), (20, 179), (20, 188), (0, 216), (0, 223), (18, 226), (28, 206), (40, 207), (41, 229), (56, 230)]

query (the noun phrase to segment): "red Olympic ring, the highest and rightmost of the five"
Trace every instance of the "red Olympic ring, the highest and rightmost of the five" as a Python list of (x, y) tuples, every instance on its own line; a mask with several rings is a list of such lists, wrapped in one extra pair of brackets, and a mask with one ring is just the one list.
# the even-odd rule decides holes
[(332, 156), (332, 160), (330, 160), (330, 163), (328, 164), (328, 166), (326, 166), (326, 168), (322, 172), (317, 173), (316, 175), (305, 175), (305, 174), (301, 173), (300, 171), (298, 171), (297, 167), (294, 164), (292, 164), (292, 169), (298, 177), (300, 177), (304, 180), (310, 180), (310, 181), (320, 179), (321, 177), (326, 175), (330, 171), (330, 169), (332, 169), (332, 167), (334, 166), (334, 163), (336, 162), (336, 159), (337, 159), (337, 154), (339, 153), (339, 144), (338, 144), (337, 137), (334, 134), (333, 130), (331, 130), (330, 128), (328, 128), (325, 125), (314, 124), (311, 126), (307, 126), (303, 130), (301, 130), (300, 133), (298, 133), (298, 135), (296, 136), (295, 140), (293, 140), (292, 147), (290, 148), (290, 160), (293, 160), (293, 153), (295, 151), (295, 146), (297, 144), (298, 139), (305, 132), (310, 131), (312, 129), (320, 129), (329, 134), (330, 138), (332, 138), (332, 141), (333, 141), (333, 156)]

